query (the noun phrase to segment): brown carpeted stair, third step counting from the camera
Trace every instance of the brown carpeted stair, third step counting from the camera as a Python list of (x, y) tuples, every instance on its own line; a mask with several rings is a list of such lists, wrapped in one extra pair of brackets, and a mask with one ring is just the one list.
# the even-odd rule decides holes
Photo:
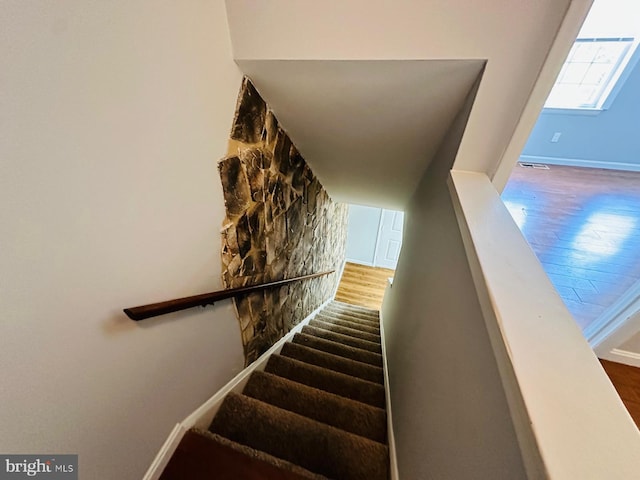
[(251, 374), (242, 393), (376, 442), (387, 442), (387, 416), (381, 408), (262, 371)]

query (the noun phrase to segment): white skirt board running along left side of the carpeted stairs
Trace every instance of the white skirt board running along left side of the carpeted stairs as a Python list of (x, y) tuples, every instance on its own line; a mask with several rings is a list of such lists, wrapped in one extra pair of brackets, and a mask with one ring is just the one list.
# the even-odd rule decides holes
[(294, 328), (291, 329), (289, 333), (287, 333), (284, 337), (278, 340), (269, 350), (260, 355), (260, 357), (253, 362), (251, 365), (243, 369), (240, 373), (238, 373), (235, 377), (233, 377), (224, 387), (222, 387), (218, 392), (216, 392), (213, 397), (203, 403), (200, 407), (198, 407), (191, 415), (185, 418), (182, 422), (178, 423), (174, 429), (171, 431), (171, 434), (167, 438), (167, 440), (162, 445), (160, 451), (154, 458), (151, 466), (145, 473), (143, 480), (158, 480), (160, 475), (162, 475), (162, 471), (169, 463), (173, 452), (175, 452), (176, 448), (180, 444), (182, 437), (184, 434), (191, 428), (198, 427), (204, 430), (209, 428), (209, 424), (213, 420), (213, 417), (220, 409), (220, 405), (224, 400), (224, 397), (227, 396), (230, 392), (240, 393), (242, 389), (249, 381), (249, 376), (256, 370), (264, 370), (269, 357), (274, 353), (279, 353), (282, 350), (282, 347), (285, 343), (293, 338), (293, 336), (302, 330), (309, 321), (316, 316), (316, 314), (322, 310), (325, 306), (327, 306), (330, 302), (333, 301), (333, 297), (326, 300), (322, 305), (316, 308), (313, 312), (307, 315), (304, 320), (298, 323)]

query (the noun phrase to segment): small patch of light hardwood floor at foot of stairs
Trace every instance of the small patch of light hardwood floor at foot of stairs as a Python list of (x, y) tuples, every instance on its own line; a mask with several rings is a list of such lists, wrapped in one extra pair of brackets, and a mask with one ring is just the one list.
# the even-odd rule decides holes
[(389, 277), (394, 270), (379, 267), (367, 267), (347, 262), (340, 279), (336, 300), (380, 310), (382, 297)]

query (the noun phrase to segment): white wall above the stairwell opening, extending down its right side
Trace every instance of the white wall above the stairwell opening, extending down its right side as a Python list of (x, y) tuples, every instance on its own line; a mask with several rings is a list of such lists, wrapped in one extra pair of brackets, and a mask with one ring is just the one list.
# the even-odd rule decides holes
[[(505, 169), (515, 164), (591, 1), (227, 0), (227, 7), (240, 61), (486, 59), (456, 168), (493, 174), (505, 152)], [(547, 59), (551, 67), (544, 69)], [(539, 78), (541, 86), (534, 88)], [(532, 92), (538, 103), (528, 103)], [(509, 149), (514, 131), (517, 145)], [(348, 185), (344, 177), (321, 179), (329, 192), (334, 183)]]

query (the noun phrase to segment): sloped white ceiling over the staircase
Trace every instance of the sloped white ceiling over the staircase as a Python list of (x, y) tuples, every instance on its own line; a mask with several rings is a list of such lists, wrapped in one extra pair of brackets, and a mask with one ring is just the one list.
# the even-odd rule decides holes
[(484, 62), (238, 64), (335, 200), (402, 209)]

